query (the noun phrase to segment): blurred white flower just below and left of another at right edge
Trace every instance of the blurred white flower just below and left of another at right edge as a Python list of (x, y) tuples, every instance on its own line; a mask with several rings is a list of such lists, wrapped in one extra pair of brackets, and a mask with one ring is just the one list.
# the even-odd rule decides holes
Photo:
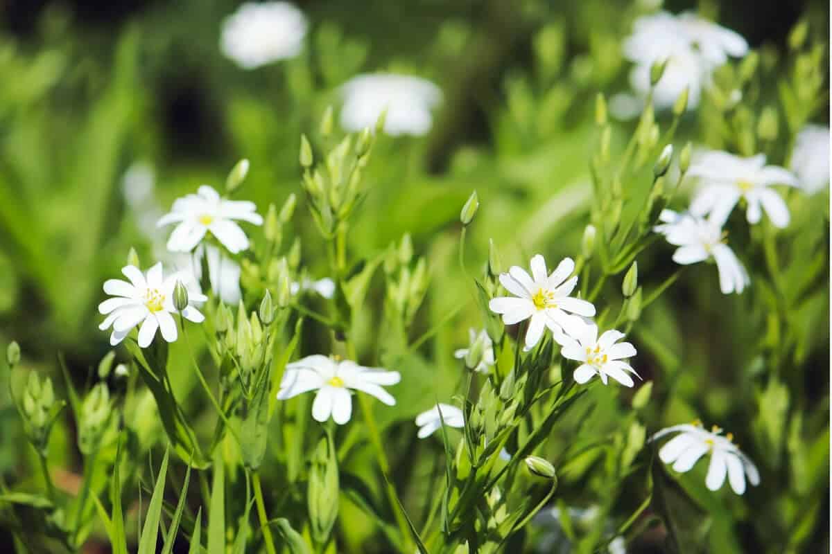
[(714, 217), (699, 218), (689, 213), (662, 210), (659, 220), (664, 222), (653, 228), (665, 236), (668, 243), (676, 248), (673, 261), (686, 266), (691, 263), (713, 259), (720, 274), (720, 290), (723, 294), (740, 293), (750, 283), (736, 254), (725, 243), (721, 224)]

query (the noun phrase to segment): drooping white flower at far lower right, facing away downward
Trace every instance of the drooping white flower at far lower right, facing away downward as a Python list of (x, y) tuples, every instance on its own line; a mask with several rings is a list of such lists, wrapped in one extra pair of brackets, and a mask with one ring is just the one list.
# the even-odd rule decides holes
[(730, 433), (722, 436), (722, 429), (716, 425), (711, 432), (703, 429), (699, 422), (673, 425), (654, 434), (651, 441), (677, 431), (679, 434), (659, 450), (661, 461), (673, 463), (674, 471), (690, 471), (699, 458), (711, 453), (711, 463), (705, 479), (709, 490), (719, 490), (725, 483), (726, 473), (730, 488), (737, 494), (745, 493), (746, 476), (752, 485), (760, 484), (760, 473), (754, 463), (731, 442), (733, 436)]

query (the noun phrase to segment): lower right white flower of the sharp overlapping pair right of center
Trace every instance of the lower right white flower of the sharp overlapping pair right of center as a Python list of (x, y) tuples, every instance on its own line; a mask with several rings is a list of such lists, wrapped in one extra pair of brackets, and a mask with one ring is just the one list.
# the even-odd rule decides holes
[(577, 339), (567, 339), (561, 349), (561, 355), (567, 360), (581, 362), (575, 370), (575, 381), (581, 385), (599, 375), (604, 385), (607, 377), (617, 380), (624, 386), (631, 387), (633, 380), (627, 372), (638, 376), (631, 365), (623, 361), (636, 355), (636, 348), (629, 342), (618, 342), (624, 338), (621, 331), (610, 330), (598, 337), (598, 326), (587, 325)]

